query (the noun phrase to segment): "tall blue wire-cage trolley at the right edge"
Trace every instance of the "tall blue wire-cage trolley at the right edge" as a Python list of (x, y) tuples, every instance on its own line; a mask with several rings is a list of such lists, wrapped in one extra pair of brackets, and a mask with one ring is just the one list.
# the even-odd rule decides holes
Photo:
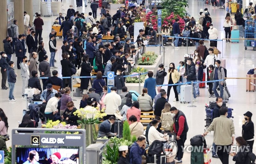
[(247, 47), (252, 47), (252, 50), (256, 50), (256, 21), (255, 20), (245, 20), (244, 27), (244, 49), (247, 50)]

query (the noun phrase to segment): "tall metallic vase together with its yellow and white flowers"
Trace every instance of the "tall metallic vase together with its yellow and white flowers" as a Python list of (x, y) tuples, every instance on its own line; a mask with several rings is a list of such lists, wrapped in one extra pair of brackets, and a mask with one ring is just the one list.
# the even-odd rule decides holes
[(98, 110), (90, 112), (84, 108), (80, 108), (74, 112), (74, 115), (78, 116), (79, 120), (77, 120), (77, 123), (80, 124), (81, 128), (86, 129), (86, 146), (95, 144), (100, 128), (100, 119), (107, 114), (100, 113)]

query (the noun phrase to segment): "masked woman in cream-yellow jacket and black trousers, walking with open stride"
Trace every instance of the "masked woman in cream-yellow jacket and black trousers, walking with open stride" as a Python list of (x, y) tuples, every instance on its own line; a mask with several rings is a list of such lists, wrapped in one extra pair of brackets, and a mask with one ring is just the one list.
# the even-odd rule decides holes
[[(174, 63), (170, 63), (167, 77), (168, 77), (168, 84), (176, 84), (180, 80), (180, 74), (175, 69)], [(169, 101), (170, 91), (171, 91), (172, 87), (173, 87), (173, 91), (175, 93), (175, 99), (173, 101), (179, 101), (177, 85), (168, 86), (168, 89), (167, 89), (168, 101)]]

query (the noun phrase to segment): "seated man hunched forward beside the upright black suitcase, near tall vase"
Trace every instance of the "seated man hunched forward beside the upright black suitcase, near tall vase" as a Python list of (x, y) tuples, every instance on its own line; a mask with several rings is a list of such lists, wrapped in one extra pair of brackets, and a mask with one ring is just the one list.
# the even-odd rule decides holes
[(116, 133), (112, 133), (111, 126), (115, 123), (116, 118), (114, 116), (109, 117), (107, 120), (100, 124), (98, 138), (100, 137), (114, 137)]

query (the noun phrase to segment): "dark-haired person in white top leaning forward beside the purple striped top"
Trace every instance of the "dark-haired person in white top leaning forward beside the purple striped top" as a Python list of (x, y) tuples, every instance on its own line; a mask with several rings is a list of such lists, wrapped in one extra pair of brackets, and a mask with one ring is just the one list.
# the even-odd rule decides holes
[(58, 113), (58, 102), (60, 101), (61, 93), (57, 92), (54, 97), (50, 98), (46, 104), (44, 115), (46, 120), (54, 120), (55, 113)]

